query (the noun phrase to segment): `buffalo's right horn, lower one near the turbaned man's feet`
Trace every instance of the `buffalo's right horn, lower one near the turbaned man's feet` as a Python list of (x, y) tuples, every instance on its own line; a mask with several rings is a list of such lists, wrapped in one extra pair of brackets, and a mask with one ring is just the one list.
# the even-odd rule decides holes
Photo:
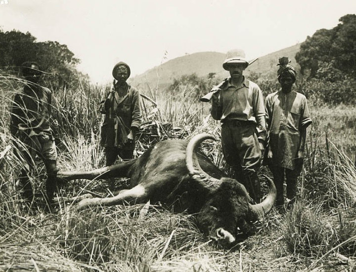
[(275, 189), (273, 181), (267, 177), (266, 175), (263, 175), (265, 178), (267, 178), (268, 185), (269, 185), (269, 192), (267, 194), (267, 197), (265, 200), (259, 204), (249, 204), (250, 205), (250, 219), (251, 221), (256, 221), (256, 220), (263, 220), (265, 215), (270, 212), (272, 209), (274, 202), (277, 197), (277, 191)]

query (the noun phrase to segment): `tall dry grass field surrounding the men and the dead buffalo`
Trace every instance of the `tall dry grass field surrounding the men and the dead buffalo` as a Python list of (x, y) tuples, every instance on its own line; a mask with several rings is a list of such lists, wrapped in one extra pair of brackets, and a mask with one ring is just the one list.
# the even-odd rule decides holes
[[(0, 140), (11, 144), (8, 105), (17, 79), (2, 77)], [(92, 169), (104, 164), (99, 147), (99, 88), (55, 94), (53, 110), (61, 170)], [(143, 98), (143, 125), (136, 146), (142, 154), (154, 142), (186, 139), (199, 132), (220, 137), (220, 124), (209, 106), (189, 96)], [(81, 212), (61, 204), (46, 213), (41, 203), (45, 168), (33, 173), (36, 200), (24, 203), (17, 190), (21, 166), (10, 150), (0, 161), (0, 271), (355, 271), (356, 261), (356, 106), (314, 105), (308, 131), (299, 199), (284, 213), (273, 210), (258, 233), (231, 248), (216, 246), (196, 227), (192, 215), (174, 214), (160, 205), (92, 208)], [(220, 143), (204, 150), (228, 171)], [(261, 172), (267, 172), (262, 169)], [(117, 185), (125, 186), (125, 180)], [(77, 180), (59, 195), (110, 194), (101, 180)], [(154, 203), (151, 203), (154, 204)]]

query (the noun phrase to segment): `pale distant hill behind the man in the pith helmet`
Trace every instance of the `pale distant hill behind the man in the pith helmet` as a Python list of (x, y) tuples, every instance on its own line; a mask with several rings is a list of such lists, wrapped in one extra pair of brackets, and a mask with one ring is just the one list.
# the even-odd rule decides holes
[[(257, 73), (259, 77), (275, 78), (278, 67), (278, 58), (287, 56), (292, 61), (292, 65), (299, 70), (295, 55), (300, 49), (300, 43), (270, 53), (260, 57), (255, 63), (249, 66), (245, 75), (248, 77), (251, 72)], [(160, 66), (156, 66), (145, 73), (131, 78), (131, 83), (139, 88), (146, 89), (147, 86), (155, 88), (165, 88), (172, 84), (175, 78), (183, 75), (196, 73), (198, 77), (207, 77), (210, 73), (215, 73), (217, 78), (228, 77), (228, 72), (223, 70), (225, 53), (219, 52), (198, 52), (169, 60)], [(256, 74), (255, 74), (256, 75)]]

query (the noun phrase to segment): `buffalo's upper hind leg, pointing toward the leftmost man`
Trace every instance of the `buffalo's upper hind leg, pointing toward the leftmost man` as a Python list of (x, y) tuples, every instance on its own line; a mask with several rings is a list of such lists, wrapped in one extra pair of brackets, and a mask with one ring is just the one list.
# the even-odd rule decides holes
[(99, 169), (94, 169), (91, 171), (58, 171), (57, 178), (66, 181), (74, 179), (108, 179), (108, 178), (120, 178), (128, 177), (128, 172), (130, 167), (134, 164), (137, 159), (123, 161), (118, 164), (106, 166)]

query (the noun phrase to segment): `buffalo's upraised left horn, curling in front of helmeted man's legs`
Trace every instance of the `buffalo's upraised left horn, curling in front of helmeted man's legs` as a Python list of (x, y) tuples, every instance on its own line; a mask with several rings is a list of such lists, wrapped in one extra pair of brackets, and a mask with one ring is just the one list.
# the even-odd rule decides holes
[(189, 175), (198, 181), (204, 181), (203, 185), (210, 187), (210, 185), (214, 185), (219, 182), (218, 179), (208, 175), (199, 165), (198, 157), (196, 155), (196, 149), (198, 146), (205, 140), (214, 140), (215, 137), (208, 133), (201, 133), (195, 135), (188, 143), (185, 150), (185, 164), (188, 168)]

